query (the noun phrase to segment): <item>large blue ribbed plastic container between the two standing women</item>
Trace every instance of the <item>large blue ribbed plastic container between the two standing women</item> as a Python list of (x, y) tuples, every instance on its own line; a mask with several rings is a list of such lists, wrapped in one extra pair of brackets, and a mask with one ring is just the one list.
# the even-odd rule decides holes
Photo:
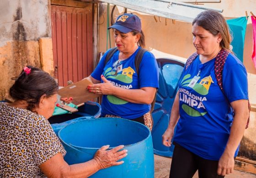
[(154, 153), (160, 156), (172, 157), (174, 145), (165, 147), (162, 144), (162, 135), (168, 127), (171, 108), (178, 90), (184, 63), (169, 59), (156, 59), (159, 67), (159, 89), (156, 95), (155, 107), (152, 113), (154, 126), (152, 139)]

